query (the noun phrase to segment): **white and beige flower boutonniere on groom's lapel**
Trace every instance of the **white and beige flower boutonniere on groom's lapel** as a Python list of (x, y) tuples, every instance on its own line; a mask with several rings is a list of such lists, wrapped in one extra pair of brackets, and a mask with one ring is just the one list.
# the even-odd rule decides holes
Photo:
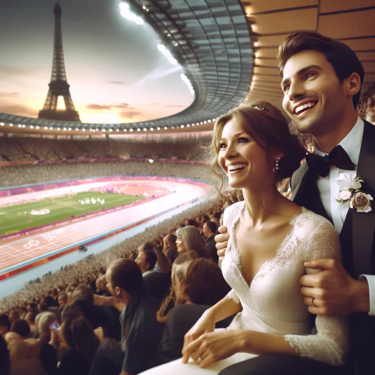
[(371, 201), (373, 197), (361, 190), (361, 183), (364, 181), (360, 177), (356, 177), (355, 173), (341, 173), (340, 178), (335, 182), (340, 187), (340, 193), (338, 199), (336, 199), (338, 203), (349, 201), (350, 208), (355, 208), (357, 212), (370, 212), (372, 210)]

